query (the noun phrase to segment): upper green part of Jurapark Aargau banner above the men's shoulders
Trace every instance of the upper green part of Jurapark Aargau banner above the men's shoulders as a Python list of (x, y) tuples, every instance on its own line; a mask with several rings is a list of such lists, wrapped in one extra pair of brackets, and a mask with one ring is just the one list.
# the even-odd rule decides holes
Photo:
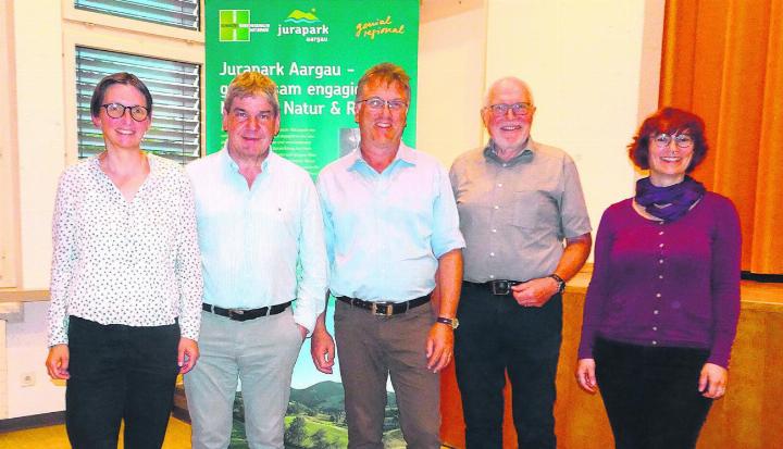
[(281, 132), (272, 149), (313, 176), (356, 148), (353, 100), (370, 66), (393, 62), (411, 76), (403, 141), (415, 146), (417, 0), (210, 0), (207, 23), (207, 153), (223, 148), (225, 91), (257, 71), (278, 86)]

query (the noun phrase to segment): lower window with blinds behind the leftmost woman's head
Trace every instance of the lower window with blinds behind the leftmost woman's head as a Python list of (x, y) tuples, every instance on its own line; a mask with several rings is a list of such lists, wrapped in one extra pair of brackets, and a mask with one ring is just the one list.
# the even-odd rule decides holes
[(76, 47), (78, 157), (103, 151), (91, 121), (90, 99), (98, 82), (116, 72), (138, 76), (152, 93), (152, 125), (141, 148), (185, 164), (200, 155), (201, 110), (198, 64)]

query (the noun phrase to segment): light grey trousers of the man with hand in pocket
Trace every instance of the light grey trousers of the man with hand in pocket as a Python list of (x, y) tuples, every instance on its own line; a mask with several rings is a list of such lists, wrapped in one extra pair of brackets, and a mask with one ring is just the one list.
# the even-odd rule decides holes
[(194, 449), (228, 447), (238, 379), (249, 447), (282, 449), (290, 379), (301, 345), (290, 308), (245, 322), (203, 312), (201, 358), (185, 375)]

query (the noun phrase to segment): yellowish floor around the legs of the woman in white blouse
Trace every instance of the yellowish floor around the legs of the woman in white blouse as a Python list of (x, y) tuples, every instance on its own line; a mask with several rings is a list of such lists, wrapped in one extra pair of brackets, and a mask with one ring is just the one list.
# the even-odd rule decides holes
[[(122, 432), (120, 433), (120, 448)], [(64, 425), (0, 433), (0, 449), (70, 449)], [(169, 422), (163, 449), (189, 449), (190, 424), (172, 417)]]

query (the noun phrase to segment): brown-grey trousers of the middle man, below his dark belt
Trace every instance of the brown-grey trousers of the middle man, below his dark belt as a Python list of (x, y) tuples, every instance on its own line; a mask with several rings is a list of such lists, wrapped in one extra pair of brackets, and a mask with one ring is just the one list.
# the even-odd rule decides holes
[(391, 377), (408, 448), (440, 447), (440, 375), (426, 369), (430, 304), (376, 316), (337, 301), (335, 337), (345, 387), (348, 448), (384, 447), (386, 383)]

